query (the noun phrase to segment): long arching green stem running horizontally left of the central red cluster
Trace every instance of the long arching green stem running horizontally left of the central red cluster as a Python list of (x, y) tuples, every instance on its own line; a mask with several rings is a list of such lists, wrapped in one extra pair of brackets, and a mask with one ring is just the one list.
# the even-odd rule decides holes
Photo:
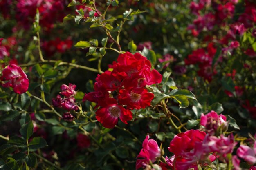
[[(43, 63), (57, 63), (59, 61), (57, 60), (44, 60), (44, 61), (40, 61), (40, 62), (34, 62), (34, 63), (28, 63), (28, 64), (20, 64), (18, 66), (20, 67), (27, 67), (27, 66), (34, 66), (36, 64), (43, 64)], [(96, 73), (103, 73), (103, 72), (99, 72), (97, 69), (95, 68), (90, 68), (90, 67), (87, 67), (87, 66), (81, 66), (81, 65), (78, 65), (78, 64), (73, 64), (73, 63), (69, 63), (69, 62), (63, 62), (61, 61), (58, 65), (67, 65), (67, 66), (73, 66), (74, 68), (82, 68), (82, 69), (85, 69), (85, 70), (88, 70), (88, 71), (92, 71), (92, 72), (96, 72)]]

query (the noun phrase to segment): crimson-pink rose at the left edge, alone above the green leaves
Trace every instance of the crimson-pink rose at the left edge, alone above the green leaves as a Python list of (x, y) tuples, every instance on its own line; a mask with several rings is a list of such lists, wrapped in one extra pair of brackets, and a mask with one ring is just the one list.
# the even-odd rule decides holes
[(25, 93), (29, 88), (29, 79), (24, 71), (15, 64), (7, 66), (2, 71), (1, 81), (3, 87), (12, 87), (13, 91), (18, 94)]

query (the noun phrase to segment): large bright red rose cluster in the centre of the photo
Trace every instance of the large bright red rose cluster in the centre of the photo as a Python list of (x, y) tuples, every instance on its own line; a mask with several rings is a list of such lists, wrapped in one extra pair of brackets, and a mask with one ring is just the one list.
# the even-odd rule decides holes
[(154, 94), (145, 87), (160, 83), (162, 75), (152, 70), (150, 61), (139, 53), (120, 54), (109, 67), (112, 71), (97, 76), (94, 92), (85, 94), (83, 101), (97, 103), (100, 108), (96, 119), (104, 127), (113, 128), (118, 117), (127, 124), (132, 119), (130, 110), (150, 106)]

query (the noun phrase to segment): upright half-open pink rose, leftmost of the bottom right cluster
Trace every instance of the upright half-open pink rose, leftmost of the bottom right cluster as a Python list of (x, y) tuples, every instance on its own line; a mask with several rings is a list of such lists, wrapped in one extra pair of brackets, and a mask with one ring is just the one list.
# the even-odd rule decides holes
[(154, 163), (156, 161), (156, 157), (161, 157), (161, 149), (157, 145), (157, 141), (155, 141), (154, 139), (148, 139), (149, 136), (147, 135), (143, 141), (142, 149), (137, 156), (136, 170), (144, 166), (144, 164), (148, 164), (149, 160)]

